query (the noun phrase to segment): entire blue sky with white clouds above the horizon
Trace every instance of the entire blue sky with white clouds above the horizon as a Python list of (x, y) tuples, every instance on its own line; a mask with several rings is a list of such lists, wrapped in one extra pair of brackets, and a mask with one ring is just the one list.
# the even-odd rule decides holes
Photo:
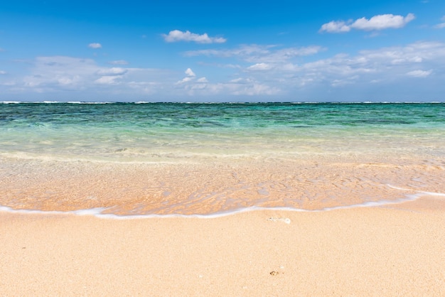
[(0, 3), (0, 101), (445, 101), (445, 1)]

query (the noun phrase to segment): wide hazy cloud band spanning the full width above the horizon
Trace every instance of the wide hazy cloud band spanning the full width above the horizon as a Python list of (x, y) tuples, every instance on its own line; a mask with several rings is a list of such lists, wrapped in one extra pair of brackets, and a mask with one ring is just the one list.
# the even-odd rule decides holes
[[(113, 95), (116, 96), (114, 98), (122, 98), (125, 95), (128, 99), (141, 98), (142, 95), (178, 99), (186, 95), (186, 98), (197, 96), (193, 98), (199, 100), (214, 98), (208, 97), (210, 95), (220, 99), (262, 95), (277, 95), (282, 99), (296, 95), (308, 95), (303, 98), (310, 99), (323, 95), (318, 99), (335, 99), (333, 95), (338, 95), (338, 98), (347, 99), (343, 96), (352, 98), (355, 95), (363, 96), (365, 92), (380, 95), (404, 92), (407, 96), (413, 90), (422, 90), (425, 94), (428, 90), (434, 90), (434, 94), (445, 92), (441, 87), (445, 43), (417, 42), (327, 58), (309, 56), (320, 50), (316, 47), (280, 48), (279, 45), (245, 45), (234, 49), (210, 50), (205, 53), (227, 59), (227, 65), (233, 65), (230, 63), (235, 59), (241, 60), (237, 67), (213, 72), (212, 77), (203, 77), (191, 68), (186, 68), (182, 71), (182, 77), (177, 77), (178, 72), (127, 68), (125, 65), (107, 67), (93, 59), (38, 57), (15, 61), (23, 63), (21, 68), (27, 71), (26, 75), (19, 76), (15, 72), (2, 75), (0, 94), (28, 94), (30, 98), (35, 94), (53, 94), (53, 97), (102, 94), (109, 98)], [(203, 51), (198, 53), (204, 54)], [(198, 53), (194, 52), (193, 55)], [(225, 64), (205, 66), (221, 65)], [(5, 73), (1, 71), (0, 74)], [(412, 94), (414, 97), (419, 92)]]

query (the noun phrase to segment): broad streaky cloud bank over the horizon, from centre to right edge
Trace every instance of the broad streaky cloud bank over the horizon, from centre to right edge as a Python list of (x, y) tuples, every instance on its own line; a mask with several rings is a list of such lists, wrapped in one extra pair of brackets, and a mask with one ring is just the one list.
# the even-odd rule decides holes
[[(441, 72), (435, 69), (445, 68), (445, 43), (419, 42), (401, 47), (362, 50), (356, 55), (338, 54), (331, 58), (318, 60), (311, 57), (311, 61), (306, 63), (297, 56), (297, 54), (302, 55), (303, 53), (318, 53), (319, 50), (320, 48), (311, 48), (311, 50), (297, 48), (296, 50), (296, 48), (278, 48), (273, 45), (243, 45), (240, 48), (229, 50), (198, 50), (188, 52), (186, 55), (239, 58), (247, 63), (252, 61), (253, 63), (244, 65), (241, 71), (236, 70), (234, 75), (237, 75), (237, 78), (229, 82), (206, 84), (205, 86), (205, 92), (212, 90), (212, 94), (225, 92), (231, 95), (252, 95), (255, 93), (254, 90), (264, 90), (264, 94), (290, 93), (290, 90), (294, 90), (292, 92), (311, 90), (313, 93), (308, 93), (309, 95), (326, 94), (331, 91), (334, 94), (343, 92), (342, 90), (359, 90), (360, 88), (375, 94), (380, 92), (380, 90), (372, 90), (372, 85), (375, 85), (376, 82), (379, 82), (382, 87), (392, 84), (403, 85), (404, 83), (414, 87), (412, 81), (406, 81), (407, 77), (429, 75), (428, 82), (439, 80)], [(299, 58), (298, 63), (291, 60), (293, 57)], [(422, 68), (431, 69), (431, 72), (412, 72)], [(407, 75), (408, 72), (411, 73)], [(427, 82), (426, 80), (422, 81)], [(191, 90), (190, 88), (196, 83), (196, 81), (189, 80), (188, 84), (182, 85), (182, 87)], [(259, 87), (259, 85), (267, 86), (269, 89)], [(200, 87), (203, 88), (203, 86)], [(422, 88), (424, 87), (417, 86), (418, 90)], [(400, 87), (396, 87), (393, 94), (402, 92), (400, 90)], [(383, 89), (381, 92), (384, 92)], [(360, 94), (360, 92), (356, 94)], [(344, 94), (342, 93), (342, 95)]]

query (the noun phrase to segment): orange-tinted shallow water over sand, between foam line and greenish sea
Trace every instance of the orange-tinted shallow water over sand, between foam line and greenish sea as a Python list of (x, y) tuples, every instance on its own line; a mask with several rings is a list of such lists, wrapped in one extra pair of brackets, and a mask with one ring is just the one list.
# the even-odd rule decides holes
[(172, 163), (0, 158), (0, 205), (116, 215), (323, 210), (445, 193), (445, 163), (395, 156), (194, 158)]

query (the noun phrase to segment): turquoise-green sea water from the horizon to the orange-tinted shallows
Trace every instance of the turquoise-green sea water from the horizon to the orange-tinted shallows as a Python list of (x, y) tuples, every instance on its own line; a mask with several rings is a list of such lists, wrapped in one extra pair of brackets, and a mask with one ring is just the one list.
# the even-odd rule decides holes
[(150, 161), (370, 146), (434, 155), (444, 153), (435, 142), (445, 138), (445, 104), (0, 104), (0, 136), (1, 153), (36, 158)]

